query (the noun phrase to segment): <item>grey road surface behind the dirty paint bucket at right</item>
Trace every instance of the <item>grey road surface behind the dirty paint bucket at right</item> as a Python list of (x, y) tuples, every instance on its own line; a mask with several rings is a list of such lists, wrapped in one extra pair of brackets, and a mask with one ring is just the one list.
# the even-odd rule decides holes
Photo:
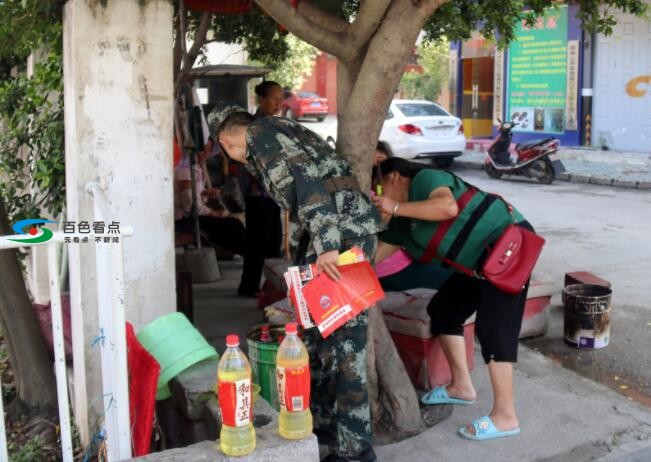
[(508, 198), (547, 239), (537, 271), (559, 287), (564, 273), (588, 270), (611, 281), (613, 325), (604, 350), (574, 350), (562, 341), (560, 296), (548, 335), (525, 342), (563, 366), (651, 406), (651, 191), (525, 179), (492, 180), (457, 171)]

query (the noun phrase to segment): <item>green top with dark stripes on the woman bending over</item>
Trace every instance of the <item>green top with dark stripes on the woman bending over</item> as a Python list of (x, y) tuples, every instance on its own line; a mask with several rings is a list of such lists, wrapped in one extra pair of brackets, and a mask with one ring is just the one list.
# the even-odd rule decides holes
[(409, 201), (423, 201), (441, 186), (449, 187), (459, 206), (450, 220), (435, 222), (410, 218), (392, 219), (380, 239), (402, 245), (414, 259), (429, 262), (437, 255), (475, 268), (487, 246), (522, 215), (499, 196), (474, 188), (452, 173), (426, 169), (411, 182)]

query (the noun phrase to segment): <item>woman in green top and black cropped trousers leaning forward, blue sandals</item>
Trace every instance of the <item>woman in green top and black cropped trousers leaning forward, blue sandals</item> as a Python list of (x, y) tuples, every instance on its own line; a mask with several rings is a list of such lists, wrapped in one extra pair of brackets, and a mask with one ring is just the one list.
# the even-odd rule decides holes
[[(381, 170), (383, 194), (373, 200), (389, 226), (380, 235), (376, 262), (403, 248), (421, 262), (440, 261), (437, 257), (442, 256), (479, 269), (487, 247), (509, 224), (532, 230), (502, 198), (478, 190), (450, 172), (422, 168), (400, 158), (383, 162)], [(476, 333), (488, 365), (494, 402), (488, 416), (459, 429), (464, 438), (485, 440), (520, 433), (513, 401), (513, 363), (517, 361), (527, 288), (516, 295), (507, 294), (486, 280), (455, 272), (428, 305), (432, 334), (440, 338), (452, 381), (425, 394), (425, 404), (475, 402), (463, 324), (477, 313)]]

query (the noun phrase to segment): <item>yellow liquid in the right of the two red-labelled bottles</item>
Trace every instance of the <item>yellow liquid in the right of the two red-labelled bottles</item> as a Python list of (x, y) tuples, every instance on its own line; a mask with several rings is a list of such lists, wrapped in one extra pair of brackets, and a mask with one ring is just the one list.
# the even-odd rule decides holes
[[(309, 368), (309, 358), (305, 345), (293, 335), (295, 341), (283, 342), (278, 348), (276, 356), (276, 367), (278, 368), (302, 368), (307, 366)], [(285, 337), (286, 340), (289, 336)], [(278, 433), (288, 440), (302, 440), (312, 434), (312, 412), (310, 411), (310, 403), (303, 403), (304, 409), (302, 411), (289, 412), (280, 408), (280, 416), (278, 417)]]

